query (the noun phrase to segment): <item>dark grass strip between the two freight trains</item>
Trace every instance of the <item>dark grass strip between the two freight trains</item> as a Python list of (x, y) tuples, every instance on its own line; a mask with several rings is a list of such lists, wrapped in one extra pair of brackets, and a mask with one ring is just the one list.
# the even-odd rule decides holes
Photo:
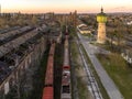
[(54, 57), (54, 99), (61, 99), (62, 67), (63, 67), (63, 44), (56, 44)]

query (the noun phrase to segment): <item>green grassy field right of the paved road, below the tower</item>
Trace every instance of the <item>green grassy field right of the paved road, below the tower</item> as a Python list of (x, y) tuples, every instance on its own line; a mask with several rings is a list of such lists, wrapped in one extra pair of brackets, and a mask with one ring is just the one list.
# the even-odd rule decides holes
[(119, 54), (100, 55), (97, 57), (113, 79), (124, 99), (132, 99), (132, 67)]

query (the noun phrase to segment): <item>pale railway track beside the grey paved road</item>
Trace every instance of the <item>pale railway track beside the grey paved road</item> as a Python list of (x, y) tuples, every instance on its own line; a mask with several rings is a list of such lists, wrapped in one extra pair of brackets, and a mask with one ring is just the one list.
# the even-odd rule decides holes
[(82, 59), (82, 64), (84, 64), (84, 70), (86, 72), (87, 74), (87, 77), (88, 77), (88, 90), (91, 92), (94, 99), (103, 99), (102, 98), (102, 95), (99, 90), (99, 87), (98, 87), (98, 84), (94, 77), (94, 74), (92, 74), (92, 70), (90, 69), (90, 67), (88, 66), (88, 63), (85, 58), (85, 55), (81, 51), (81, 47), (80, 47), (80, 44), (79, 42), (77, 41), (77, 45), (78, 45), (78, 48), (79, 48), (79, 53), (80, 53), (80, 56), (81, 56), (81, 59)]

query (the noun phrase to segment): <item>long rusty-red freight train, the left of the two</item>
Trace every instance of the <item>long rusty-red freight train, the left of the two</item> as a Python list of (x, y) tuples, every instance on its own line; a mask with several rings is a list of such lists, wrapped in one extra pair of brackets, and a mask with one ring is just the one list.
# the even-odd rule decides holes
[(54, 99), (54, 53), (55, 43), (51, 45), (42, 99)]

